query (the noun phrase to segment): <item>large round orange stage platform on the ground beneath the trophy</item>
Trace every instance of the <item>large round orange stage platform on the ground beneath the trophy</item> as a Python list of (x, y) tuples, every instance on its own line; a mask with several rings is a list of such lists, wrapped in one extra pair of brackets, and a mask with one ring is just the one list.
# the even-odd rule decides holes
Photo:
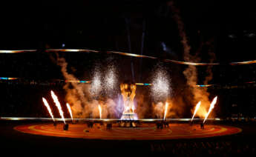
[(200, 124), (170, 124), (169, 127), (157, 129), (156, 124), (140, 124), (140, 127), (119, 127), (114, 124), (111, 130), (104, 125), (94, 124), (88, 128), (86, 124), (69, 124), (67, 131), (63, 130), (63, 124), (56, 127), (53, 124), (26, 124), (14, 127), (22, 133), (30, 133), (41, 136), (56, 136), (65, 138), (86, 138), (106, 140), (163, 140), (178, 138), (209, 138), (214, 136), (227, 136), (240, 133), (237, 127), (206, 124), (204, 130)]

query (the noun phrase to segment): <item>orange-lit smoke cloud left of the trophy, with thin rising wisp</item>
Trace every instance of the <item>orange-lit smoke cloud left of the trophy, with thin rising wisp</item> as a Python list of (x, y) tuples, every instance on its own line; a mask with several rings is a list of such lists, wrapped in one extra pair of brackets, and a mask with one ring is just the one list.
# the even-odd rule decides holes
[[(68, 73), (68, 63), (64, 58), (57, 54), (56, 61), (61, 67), (62, 75), (66, 80), (78, 81), (73, 74)], [(99, 69), (94, 71), (92, 84), (67, 82), (63, 89), (67, 93), (65, 99), (70, 104), (74, 118), (99, 118), (99, 105), (102, 106), (102, 118), (117, 118), (120, 114), (119, 110), (115, 110), (119, 106), (116, 103), (117, 100), (99, 95), (101, 90), (104, 89)], [(93, 93), (93, 96), (91, 93)], [(97, 98), (95, 99), (95, 97)]]

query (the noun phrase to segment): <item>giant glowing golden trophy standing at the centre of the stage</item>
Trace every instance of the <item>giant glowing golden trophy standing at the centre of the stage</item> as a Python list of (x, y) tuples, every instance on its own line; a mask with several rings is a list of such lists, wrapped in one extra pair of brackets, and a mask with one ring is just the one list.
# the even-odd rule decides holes
[(137, 115), (134, 113), (134, 97), (136, 91), (136, 84), (131, 83), (131, 81), (125, 81), (120, 84), (120, 89), (122, 93), (122, 99), (124, 103), (125, 110), (122, 113), (122, 120), (137, 120)]

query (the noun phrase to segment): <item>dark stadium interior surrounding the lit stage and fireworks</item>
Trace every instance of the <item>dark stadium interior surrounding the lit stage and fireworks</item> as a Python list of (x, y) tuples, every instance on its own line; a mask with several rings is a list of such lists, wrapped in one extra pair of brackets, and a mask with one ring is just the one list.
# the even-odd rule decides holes
[[(174, 156), (255, 154), (256, 10), (253, 1), (19, 1), (2, 4), (1, 8), (0, 141), (4, 147), (0, 152), (16, 153), (17, 150), (30, 154), (43, 150), (43, 153), (77, 154), (85, 150), (86, 155), (86, 152), (101, 153), (101, 150), (109, 153), (134, 150)], [(177, 15), (183, 21), (180, 25), (175, 19)], [(180, 27), (186, 32), (190, 54), (198, 58), (186, 60)], [(99, 53), (47, 52), (50, 49), (86, 49)], [(24, 53), (5, 50), (24, 50)], [(50, 99), (50, 90), (65, 104), (66, 81), (62, 67), (57, 64), (59, 57), (67, 61), (68, 73), (86, 81), (92, 80), (96, 65), (105, 70), (108, 64), (114, 64), (118, 84), (128, 79), (151, 83), (155, 65), (160, 64), (171, 76), (171, 96), (183, 99), (186, 104), (183, 113), (170, 118), (191, 118), (194, 101), (190, 101), (193, 94), (188, 93), (190, 87), (183, 73), (188, 64), (165, 59), (217, 63), (194, 66), (198, 87), (207, 89), (209, 99), (218, 96), (214, 116), (210, 117), (221, 118), (221, 121), (211, 123), (239, 127), (243, 131), (211, 138), (108, 141), (37, 136), (13, 130), (20, 124), (45, 123), (8, 121), (1, 117), (49, 117), (42, 97)], [(208, 67), (212, 76), (205, 84)], [(149, 100), (144, 102), (148, 110), (143, 118), (156, 118), (153, 109), (149, 109), (153, 106), (150, 91), (149, 86), (137, 86), (135, 99), (143, 96)], [(53, 115), (59, 116), (56, 108)], [(64, 112), (64, 116), (69, 117), (69, 113)]]

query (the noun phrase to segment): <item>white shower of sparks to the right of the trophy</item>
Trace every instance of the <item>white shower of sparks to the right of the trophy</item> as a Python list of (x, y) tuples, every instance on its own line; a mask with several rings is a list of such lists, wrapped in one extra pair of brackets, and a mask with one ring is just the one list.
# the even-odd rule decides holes
[(168, 98), (171, 94), (170, 79), (165, 70), (158, 69), (151, 83), (151, 96), (155, 101)]

